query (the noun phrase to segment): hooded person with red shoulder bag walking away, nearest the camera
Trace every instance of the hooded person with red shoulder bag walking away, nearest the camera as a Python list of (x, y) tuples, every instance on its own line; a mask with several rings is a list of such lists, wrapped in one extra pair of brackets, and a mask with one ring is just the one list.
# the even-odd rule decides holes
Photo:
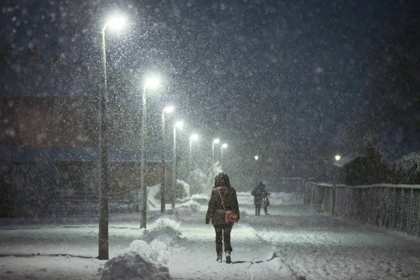
[(232, 253), (230, 232), (232, 231), (234, 222), (225, 220), (226, 211), (235, 211), (237, 221), (239, 221), (239, 205), (236, 190), (230, 186), (228, 174), (221, 172), (214, 179), (214, 187), (211, 190), (209, 208), (206, 214), (206, 223), (208, 225), (211, 220), (216, 231), (216, 261), (222, 262), (224, 241), (226, 262), (230, 263), (232, 262), (230, 256)]

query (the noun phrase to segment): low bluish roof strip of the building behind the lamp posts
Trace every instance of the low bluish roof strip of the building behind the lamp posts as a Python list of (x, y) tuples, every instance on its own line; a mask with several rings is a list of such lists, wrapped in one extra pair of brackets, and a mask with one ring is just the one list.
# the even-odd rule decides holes
[[(165, 161), (169, 155), (166, 155)], [(140, 148), (108, 148), (108, 162), (140, 162)], [(147, 152), (147, 162), (161, 162), (160, 150)], [(97, 162), (99, 148), (0, 146), (1, 162)]]

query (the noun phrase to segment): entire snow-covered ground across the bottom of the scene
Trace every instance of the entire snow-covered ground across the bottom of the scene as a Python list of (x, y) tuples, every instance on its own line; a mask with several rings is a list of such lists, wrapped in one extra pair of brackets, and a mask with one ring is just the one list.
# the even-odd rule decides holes
[(233, 264), (220, 264), (206, 195), (195, 198), (163, 217), (151, 207), (146, 230), (139, 214), (111, 216), (109, 261), (95, 258), (97, 224), (2, 225), (0, 279), (420, 279), (419, 239), (315, 214), (286, 194), (255, 217), (238, 193)]

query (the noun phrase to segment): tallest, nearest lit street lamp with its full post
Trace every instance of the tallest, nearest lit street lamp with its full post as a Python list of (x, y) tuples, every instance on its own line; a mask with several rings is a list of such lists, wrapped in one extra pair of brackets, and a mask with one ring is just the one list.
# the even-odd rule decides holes
[(107, 109), (108, 97), (106, 95), (106, 45), (105, 30), (120, 29), (125, 25), (125, 18), (114, 17), (106, 22), (101, 31), (102, 39), (102, 75), (101, 75), (101, 97), (99, 98), (99, 260), (109, 259), (109, 232), (108, 232), (108, 144), (107, 144)]

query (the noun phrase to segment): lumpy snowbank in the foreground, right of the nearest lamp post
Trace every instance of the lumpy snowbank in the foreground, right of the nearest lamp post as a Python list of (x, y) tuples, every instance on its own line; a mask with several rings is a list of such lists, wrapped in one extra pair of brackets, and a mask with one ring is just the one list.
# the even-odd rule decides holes
[(174, 253), (185, 252), (179, 246), (180, 224), (162, 217), (149, 229), (144, 229), (139, 240), (134, 240), (116, 258), (105, 263), (101, 280), (169, 279), (167, 264)]

